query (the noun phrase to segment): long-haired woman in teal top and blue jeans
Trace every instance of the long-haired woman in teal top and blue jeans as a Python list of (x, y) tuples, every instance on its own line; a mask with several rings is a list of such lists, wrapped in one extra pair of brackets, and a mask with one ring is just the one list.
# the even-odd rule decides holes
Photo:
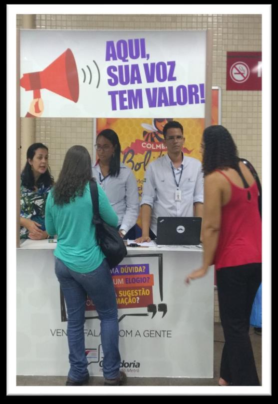
[[(84, 322), (88, 295), (101, 321), (103, 376), (105, 385), (119, 385), (118, 312), (109, 266), (95, 236), (89, 180), (91, 158), (83, 146), (66, 153), (59, 178), (46, 202), (45, 226), (57, 234), (55, 273), (67, 306), (67, 338), (70, 370), (66, 386), (82, 386), (89, 380), (85, 356)], [(116, 227), (118, 217), (98, 186), (99, 213)]]

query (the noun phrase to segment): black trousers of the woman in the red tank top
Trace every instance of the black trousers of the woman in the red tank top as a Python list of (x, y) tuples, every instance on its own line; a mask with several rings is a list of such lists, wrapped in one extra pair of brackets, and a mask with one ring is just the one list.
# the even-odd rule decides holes
[(235, 386), (260, 386), (249, 327), (253, 301), (262, 282), (262, 264), (222, 268), (216, 272), (225, 336), (220, 377)]

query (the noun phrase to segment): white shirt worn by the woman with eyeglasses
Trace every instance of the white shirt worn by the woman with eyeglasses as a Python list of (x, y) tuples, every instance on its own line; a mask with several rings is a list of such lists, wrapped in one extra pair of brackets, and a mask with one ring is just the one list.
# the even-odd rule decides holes
[(99, 164), (96, 163), (92, 166), (92, 173), (118, 215), (118, 226), (128, 232), (135, 225), (139, 215), (138, 186), (132, 170), (120, 163), (117, 177), (108, 175), (104, 178)]

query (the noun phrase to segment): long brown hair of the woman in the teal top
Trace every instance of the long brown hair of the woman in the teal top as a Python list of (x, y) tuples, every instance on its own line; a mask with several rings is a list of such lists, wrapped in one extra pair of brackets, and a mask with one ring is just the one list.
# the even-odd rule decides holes
[(91, 157), (83, 146), (72, 146), (66, 152), (58, 180), (53, 187), (56, 205), (64, 205), (82, 196), (86, 183), (92, 178)]

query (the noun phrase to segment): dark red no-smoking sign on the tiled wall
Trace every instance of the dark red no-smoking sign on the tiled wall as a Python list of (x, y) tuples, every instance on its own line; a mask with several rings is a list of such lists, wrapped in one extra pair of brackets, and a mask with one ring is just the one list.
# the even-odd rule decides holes
[(262, 90), (262, 52), (227, 52), (226, 90)]

